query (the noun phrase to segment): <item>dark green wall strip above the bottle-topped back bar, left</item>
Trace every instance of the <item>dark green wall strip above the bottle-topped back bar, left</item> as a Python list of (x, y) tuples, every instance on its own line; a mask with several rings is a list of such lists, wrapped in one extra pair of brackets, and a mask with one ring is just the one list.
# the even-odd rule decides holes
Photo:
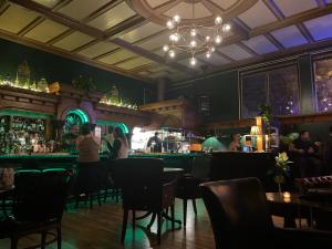
[(154, 101), (156, 95), (155, 87), (143, 81), (0, 39), (0, 75), (9, 74), (14, 77), (18, 65), (24, 60), (30, 66), (31, 79), (35, 81), (45, 77), (49, 83), (58, 81), (71, 84), (73, 79), (83, 75), (86, 79), (92, 77), (101, 92), (106, 92), (116, 84), (122, 97), (137, 104), (143, 103), (144, 89), (147, 102)]

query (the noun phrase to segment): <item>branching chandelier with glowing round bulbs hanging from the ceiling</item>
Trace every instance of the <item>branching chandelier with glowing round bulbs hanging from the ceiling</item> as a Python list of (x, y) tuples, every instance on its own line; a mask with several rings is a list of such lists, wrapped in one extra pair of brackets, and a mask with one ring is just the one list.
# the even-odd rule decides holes
[(188, 24), (181, 24), (181, 18), (178, 14), (167, 21), (166, 25), (172, 33), (163, 50), (170, 59), (175, 58), (178, 51), (190, 54), (190, 64), (195, 66), (196, 55), (205, 53), (205, 56), (209, 59), (216, 46), (222, 42), (225, 33), (230, 31), (230, 24), (225, 23), (219, 15), (215, 18), (215, 24), (210, 27), (195, 23), (195, 0), (193, 0), (191, 15), (193, 23)]

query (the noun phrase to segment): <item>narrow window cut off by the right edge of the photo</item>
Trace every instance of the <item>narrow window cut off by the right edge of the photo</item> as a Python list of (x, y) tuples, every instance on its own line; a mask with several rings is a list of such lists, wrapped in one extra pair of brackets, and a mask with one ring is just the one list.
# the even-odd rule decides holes
[(332, 59), (315, 61), (314, 86), (318, 112), (332, 111)]

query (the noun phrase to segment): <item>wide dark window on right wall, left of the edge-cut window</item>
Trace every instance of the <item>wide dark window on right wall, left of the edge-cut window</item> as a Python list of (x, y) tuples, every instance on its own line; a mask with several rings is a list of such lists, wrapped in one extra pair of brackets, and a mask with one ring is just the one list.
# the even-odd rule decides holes
[(242, 77), (241, 117), (251, 118), (259, 114), (259, 106), (270, 104), (273, 115), (299, 113), (298, 69), (286, 66)]

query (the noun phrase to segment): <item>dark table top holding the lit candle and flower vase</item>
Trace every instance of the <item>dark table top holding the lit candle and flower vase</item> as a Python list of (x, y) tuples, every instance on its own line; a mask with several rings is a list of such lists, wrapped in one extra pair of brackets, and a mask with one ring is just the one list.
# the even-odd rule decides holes
[(281, 204), (284, 206), (297, 205), (302, 207), (318, 208), (326, 211), (332, 211), (332, 203), (305, 199), (305, 196), (303, 196), (301, 193), (289, 193), (289, 197), (286, 197), (283, 194), (284, 193), (267, 193), (267, 200), (268, 203)]

